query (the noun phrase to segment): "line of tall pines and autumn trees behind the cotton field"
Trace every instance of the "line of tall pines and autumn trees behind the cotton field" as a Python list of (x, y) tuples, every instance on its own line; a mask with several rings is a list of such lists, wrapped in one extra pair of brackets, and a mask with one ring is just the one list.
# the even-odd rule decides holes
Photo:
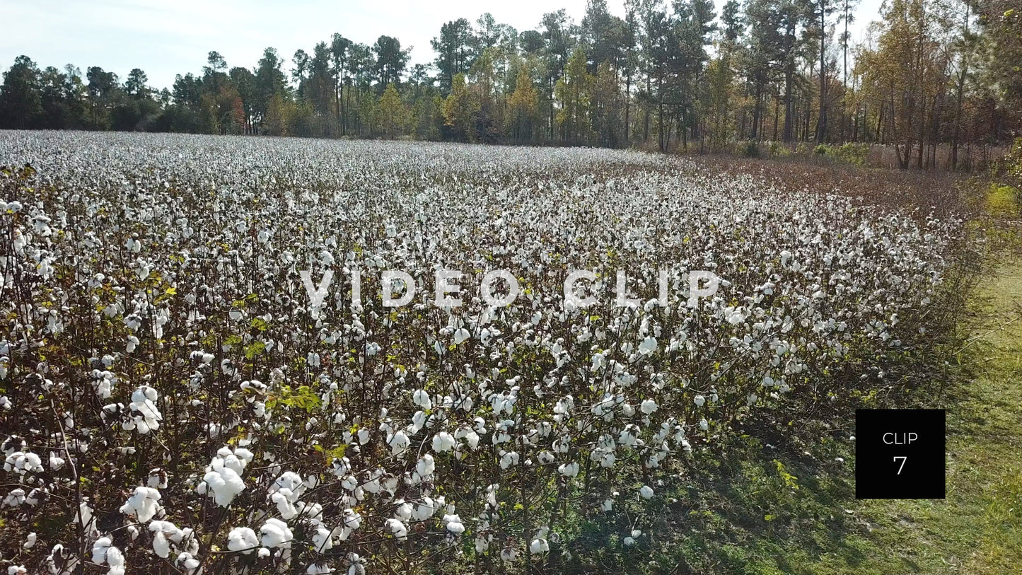
[(171, 89), (145, 73), (40, 68), (19, 56), (0, 127), (400, 138), (723, 151), (736, 142), (877, 143), (901, 167), (1022, 128), (1018, 0), (886, 0), (864, 41), (857, 0), (590, 0), (519, 32), (449, 21), (430, 64), (400, 40), (340, 34), (252, 68), (210, 52)]

